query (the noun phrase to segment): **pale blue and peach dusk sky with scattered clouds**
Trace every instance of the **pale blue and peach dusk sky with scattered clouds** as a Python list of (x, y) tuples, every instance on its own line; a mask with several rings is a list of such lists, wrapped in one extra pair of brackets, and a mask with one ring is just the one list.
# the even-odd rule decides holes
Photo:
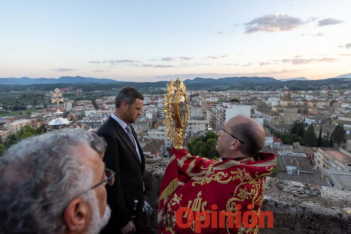
[(351, 1), (1, 1), (0, 78), (351, 73)]

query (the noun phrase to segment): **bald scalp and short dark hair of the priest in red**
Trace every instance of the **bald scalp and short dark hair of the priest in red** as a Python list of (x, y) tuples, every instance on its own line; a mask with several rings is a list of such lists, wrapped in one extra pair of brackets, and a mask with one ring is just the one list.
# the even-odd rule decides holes
[(239, 140), (240, 151), (246, 156), (253, 156), (260, 152), (265, 143), (264, 129), (259, 122), (245, 115), (236, 115), (226, 122), (226, 126)]

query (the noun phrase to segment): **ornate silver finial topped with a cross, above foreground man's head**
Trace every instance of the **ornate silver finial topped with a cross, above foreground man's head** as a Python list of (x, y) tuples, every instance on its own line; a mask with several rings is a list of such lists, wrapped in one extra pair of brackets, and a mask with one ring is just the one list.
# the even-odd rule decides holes
[(62, 118), (62, 114), (64, 114), (64, 112), (60, 111), (60, 101), (63, 102), (64, 99), (62, 98), (62, 93), (60, 93), (58, 88), (55, 89), (55, 93), (53, 93), (52, 96), (53, 98), (51, 99), (51, 102), (57, 103), (57, 111), (53, 113), (56, 115), (56, 118), (54, 119), (54, 117), (51, 115), (45, 116), (45, 128), (48, 130), (60, 130), (75, 126), (76, 118), (74, 115), (67, 115), (67, 118)]

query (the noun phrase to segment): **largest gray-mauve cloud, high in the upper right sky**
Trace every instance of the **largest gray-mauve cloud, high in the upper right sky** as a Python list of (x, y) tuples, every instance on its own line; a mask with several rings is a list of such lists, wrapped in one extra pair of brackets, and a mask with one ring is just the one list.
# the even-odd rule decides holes
[(283, 13), (266, 14), (265, 16), (251, 20), (245, 23), (245, 33), (264, 32), (282, 32), (291, 31), (294, 28), (303, 26), (305, 22), (297, 17), (292, 17)]

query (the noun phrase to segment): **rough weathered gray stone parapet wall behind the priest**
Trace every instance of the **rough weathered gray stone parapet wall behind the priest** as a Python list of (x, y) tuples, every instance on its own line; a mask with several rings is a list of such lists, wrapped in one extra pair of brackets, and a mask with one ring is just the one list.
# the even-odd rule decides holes
[[(158, 194), (168, 159), (145, 155), (147, 201), (152, 215), (143, 213), (143, 234), (158, 233)], [(350, 234), (351, 192), (304, 183), (267, 178), (262, 210), (272, 211), (274, 228), (260, 228), (261, 234)]]

